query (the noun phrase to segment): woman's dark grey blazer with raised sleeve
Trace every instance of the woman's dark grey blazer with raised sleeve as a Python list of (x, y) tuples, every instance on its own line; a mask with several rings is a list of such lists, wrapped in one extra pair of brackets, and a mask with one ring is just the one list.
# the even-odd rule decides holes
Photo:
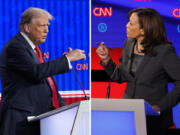
[[(144, 55), (135, 77), (130, 73), (134, 39), (128, 39), (123, 48), (122, 64), (115, 69), (112, 59), (101, 64), (113, 80), (127, 82), (125, 94), (128, 98), (145, 99), (151, 105), (158, 105), (166, 123), (172, 124), (171, 108), (180, 101), (180, 60), (172, 45), (163, 44), (154, 48), (156, 56)], [(168, 82), (175, 84), (168, 93)]]

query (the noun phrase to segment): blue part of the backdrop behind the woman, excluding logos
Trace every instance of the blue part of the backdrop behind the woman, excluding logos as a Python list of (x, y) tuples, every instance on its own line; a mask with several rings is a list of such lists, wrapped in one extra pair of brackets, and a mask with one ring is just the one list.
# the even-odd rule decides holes
[[(93, 15), (95, 7), (112, 7), (112, 17)], [(163, 17), (168, 40), (173, 42), (177, 54), (180, 57), (180, 18), (175, 18), (172, 11), (175, 8), (179, 9), (180, 0), (92, 0), (91, 6), (91, 33), (92, 47), (97, 47), (96, 42), (104, 41), (108, 47), (122, 48), (126, 40), (126, 24), (128, 22), (127, 13), (133, 8), (151, 7), (157, 10)], [(176, 12), (178, 14), (178, 12)], [(179, 15), (180, 16), (180, 15)], [(105, 23), (107, 30), (100, 32), (98, 25)], [(169, 91), (173, 88), (173, 84), (169, 84)], [(180, 104), (174, 107), (174, 122), (180, 128)]]

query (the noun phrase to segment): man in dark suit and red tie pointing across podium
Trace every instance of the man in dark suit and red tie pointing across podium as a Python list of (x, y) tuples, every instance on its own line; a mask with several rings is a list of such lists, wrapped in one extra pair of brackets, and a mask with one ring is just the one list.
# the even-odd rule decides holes
[(52, 76), (68, 72), (70, 62), (85, 59), (85, 54), (70, 49), (62, 57), (44, 62), (38, 45), (45, 42), (51, 19), (43, 9), (27, 9), (21, 16), (20, 32), (2, 49), (0, 135), (39, 134), (39, 123), (28, 123), (27, 116), (65, 105)]

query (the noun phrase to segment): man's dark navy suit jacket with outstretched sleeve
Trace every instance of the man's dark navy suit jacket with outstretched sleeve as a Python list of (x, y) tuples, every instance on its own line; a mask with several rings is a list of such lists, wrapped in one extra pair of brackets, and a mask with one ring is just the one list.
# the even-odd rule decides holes
[[(68, 71), (66, 56), (40, 63), (34, 50), (20, 33), (10, 39), (0, 56), (2, 81), (0, 135), (2, 132), (3, 135), (15, 135), (14, 132), (20, 135), (21, 128), (17, 129), (19, 122), (25, 120), (27, 116), (50, 111), (52, 91), (47, 77)], [(65, 105), (60, 95), (58, 99), (60, 106)], [(28, 132), (22, 131), (22, 134)]]

